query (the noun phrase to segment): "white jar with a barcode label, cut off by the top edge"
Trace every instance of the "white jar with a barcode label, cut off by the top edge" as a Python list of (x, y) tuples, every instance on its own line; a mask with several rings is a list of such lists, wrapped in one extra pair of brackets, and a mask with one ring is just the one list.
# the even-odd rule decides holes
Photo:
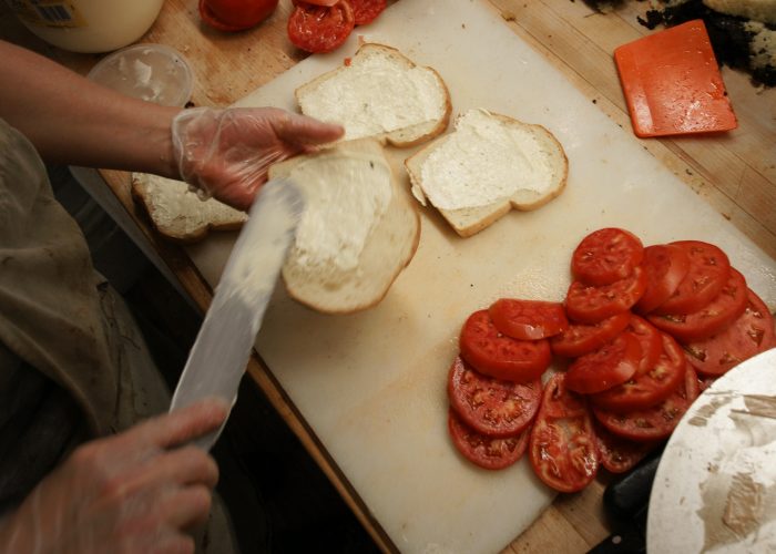
[(8, 0), (21, 22), (73, 52), (109, 52), (140, 39), (164, 0)]

